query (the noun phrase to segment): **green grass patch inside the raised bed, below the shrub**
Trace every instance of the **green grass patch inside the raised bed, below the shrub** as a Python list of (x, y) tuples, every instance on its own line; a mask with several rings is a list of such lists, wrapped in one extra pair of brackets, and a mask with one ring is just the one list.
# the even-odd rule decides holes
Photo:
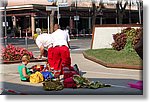
[(123, 50), (116, 51), (113, 49), (96, 49), (86, 50), (86, 54), (95, 57), (101, 61), (111, 64), (127, 64), (127, 65), (141, 65), (142, 60), (138, 54), (133, 52), (125, 52)]

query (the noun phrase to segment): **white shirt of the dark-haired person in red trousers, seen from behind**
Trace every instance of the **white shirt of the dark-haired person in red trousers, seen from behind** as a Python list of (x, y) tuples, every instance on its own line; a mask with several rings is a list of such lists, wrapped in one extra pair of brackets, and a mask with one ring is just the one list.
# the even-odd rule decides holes
[(53, 47), (66, 45), (68, 47), (68, 41), (70, 41), (69, 35), (66, 31), (61, 29), (57, 29), (55, 32), (52, 33), (53, 38)]

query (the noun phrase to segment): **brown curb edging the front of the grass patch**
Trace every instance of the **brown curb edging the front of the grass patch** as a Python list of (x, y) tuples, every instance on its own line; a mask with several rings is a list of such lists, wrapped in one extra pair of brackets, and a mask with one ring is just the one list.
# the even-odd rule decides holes
[(126, 64), (111, 64), (111, 63), (106, 63), (104, 61), (101, 61), (93, 56), (89, 56), (85, 52), (83, 52), (83, 56), (91, 61), (94, 61), (98, 64), (101, 64), (107, 68), (123, 68), (123, 69), (136, 69), (136, 70), (143, 70), (143, 66), (138, 66), (138, 65), (126, 65)]

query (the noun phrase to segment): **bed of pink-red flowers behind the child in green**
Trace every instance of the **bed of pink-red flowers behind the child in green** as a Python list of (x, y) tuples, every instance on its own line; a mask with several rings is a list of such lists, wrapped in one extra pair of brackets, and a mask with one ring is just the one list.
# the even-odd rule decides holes
[(25, 48), (16, 47), (12, 44), (8, 44), (6, 47), (2, 47), (1, 49), (1, 63), (3, 64), (13, 64), (20, 63), (21, 58), (24, 55), (28, 55), (30, 57), (30, 62), (42, 62), (47, 59), (37, 59), (33, 56), (33, 53), (28, 51)]

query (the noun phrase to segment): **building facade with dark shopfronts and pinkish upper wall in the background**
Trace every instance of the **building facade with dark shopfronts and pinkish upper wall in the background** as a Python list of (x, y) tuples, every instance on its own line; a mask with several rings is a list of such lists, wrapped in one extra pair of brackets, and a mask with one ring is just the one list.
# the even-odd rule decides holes
[[(100, 1), (103, 7), (100, 7)], [(8, 0), (7, 35), (26, 36), (27, 33), (28, 36), (33, 36), (36, 28), (51, 33), (54, 23), (59, 23), (62, 28), (67, 27), (70, 34), (90, 34), (94, 26), (92, 20), (95, 10), (94, 24), (118, 24), (116, 3), (109, 0), (95, 0), (96, 9), (93, 9), (90, 0), (88, 2), (86, 0), (59, 0), (59, 2), (58, 0)], [(141, 6), (139, 9), (136, 3), (132, 2), (132, 5), (128, 3), (122, 23), (139, 23), (139, 17), (143, 18)], [(0, 10), (3, 12), (4, 7), (0, 7)], [(4, 18), (4, 13), (2, 16)]]

